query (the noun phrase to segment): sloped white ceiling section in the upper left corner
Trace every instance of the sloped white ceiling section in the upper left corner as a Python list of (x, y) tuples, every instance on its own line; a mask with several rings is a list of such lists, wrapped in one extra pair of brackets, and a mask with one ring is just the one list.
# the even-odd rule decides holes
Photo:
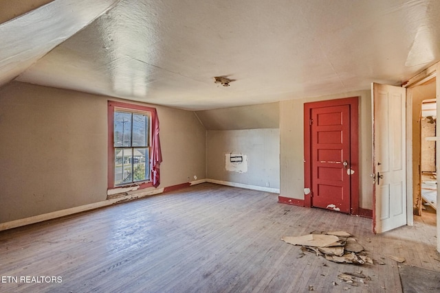
[[(25, 12), (32, 2), (21, 1), (19, 7), (2, 1), (1, 19), (10, 19), (0, 25), (0, 86), (10, 82), (39, 62), (54, 47), (76, 34), (109, 10), (116, 0), (58, 0), (10, 19), (17, 12)], [(58, 65), (60, 67), (62, 65)], [(29, 81), (32, 82), (32, 81)], [(35, 82), (36, 83), (36, 82)]]

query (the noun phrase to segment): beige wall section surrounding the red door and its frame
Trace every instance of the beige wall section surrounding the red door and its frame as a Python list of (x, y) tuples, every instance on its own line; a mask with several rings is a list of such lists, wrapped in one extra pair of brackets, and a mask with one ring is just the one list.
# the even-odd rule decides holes
[(286, 198), (304, 199), (304, 104), (307, 102), (359, 97), (360, 202), (373, 209), (371, 91), (291, 99), (280, 102), (281, 192)]

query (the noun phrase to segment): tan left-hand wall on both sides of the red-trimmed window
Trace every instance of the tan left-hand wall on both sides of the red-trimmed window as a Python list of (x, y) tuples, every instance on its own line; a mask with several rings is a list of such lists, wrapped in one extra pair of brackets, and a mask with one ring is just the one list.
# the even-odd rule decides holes
[[(118, 100), (21, 82), (0, 88), (0, 223), (106, 200), (108, 99)], [(205, 128), (193, 112), (156, 108), (159, 187), (205, 178)]]

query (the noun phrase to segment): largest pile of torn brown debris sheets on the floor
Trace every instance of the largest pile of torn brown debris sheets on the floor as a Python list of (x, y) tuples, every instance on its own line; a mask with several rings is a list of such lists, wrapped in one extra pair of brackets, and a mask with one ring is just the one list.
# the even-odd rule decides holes
[(364, 247), (345, 231), (314, 231), (308, 235), (283, 236), (281, 239), (289, 244), (303, 246), (303, 252), (314, 252), (316, 256), (336, 263), (373, 264), (373, 259), (364, 254)]

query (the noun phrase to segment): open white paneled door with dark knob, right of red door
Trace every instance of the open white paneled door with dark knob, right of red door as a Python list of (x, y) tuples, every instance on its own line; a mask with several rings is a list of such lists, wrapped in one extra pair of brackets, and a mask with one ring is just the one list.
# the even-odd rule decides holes
[(406, 89), (372, 84), (373, 231), (406, 225)]

